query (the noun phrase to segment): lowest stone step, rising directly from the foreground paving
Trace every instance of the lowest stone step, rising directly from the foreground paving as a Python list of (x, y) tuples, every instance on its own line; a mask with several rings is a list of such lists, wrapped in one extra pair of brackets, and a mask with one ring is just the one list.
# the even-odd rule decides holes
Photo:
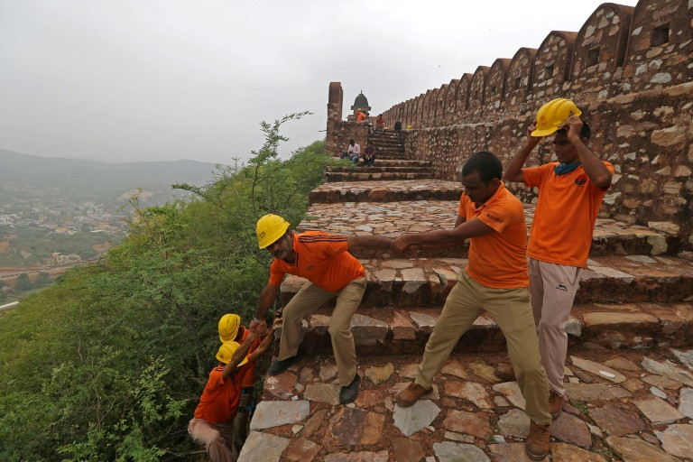
[[(423, 351), (439, 308), (363, 309), (352, 319), (358, 356), (415, 355)], [(331, 309), (303, 321), (303, 355), (332, 351), (328, 326)], [(589, 342), (600, 347), (651, 348), (693, 346), (693, 303), (582, 303), (573, 307), (566, 326), (568, 345)], [(277, 338), (281, 337), (281, 328)], [(454, 349), (460, 353), (505, 351), (503, 332), (486, 313), (476, 319)]]

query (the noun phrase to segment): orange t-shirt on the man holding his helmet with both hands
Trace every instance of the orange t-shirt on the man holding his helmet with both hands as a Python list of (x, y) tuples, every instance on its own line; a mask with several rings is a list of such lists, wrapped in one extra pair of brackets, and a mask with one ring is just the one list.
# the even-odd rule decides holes
[[(582, 167), (556, 175), (553, 169), (558, 164), (522, 169), (524, 183), (539, 188), (527, 254), (542, 262), (585, 268), (606, 189), (597, 188)], [(614, 174), (614, 166), (604, 164)]]

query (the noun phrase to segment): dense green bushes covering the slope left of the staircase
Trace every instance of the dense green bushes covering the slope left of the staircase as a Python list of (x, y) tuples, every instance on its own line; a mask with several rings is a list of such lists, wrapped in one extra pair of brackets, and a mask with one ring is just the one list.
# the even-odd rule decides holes
[(99, 263), (0, 319), (1, 460), (187, 460), (188, 420), (216, 363), (217, 320), (252, 318), (268, 274), (254, 224), (297, 225), (331, 162), (316, 142), (282, 160), (288, 115), (197, 199), (141, 208)]

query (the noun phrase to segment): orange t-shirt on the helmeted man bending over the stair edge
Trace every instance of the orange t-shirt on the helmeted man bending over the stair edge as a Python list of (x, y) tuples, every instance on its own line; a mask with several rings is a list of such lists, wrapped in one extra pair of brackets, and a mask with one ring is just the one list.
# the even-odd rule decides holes
[(270, 284), (280, 285), (284, 274), (290, 273), (306, 278), (325, 291), (341, 291), (349, 282), (365, 276), (364, 265), (347, 249), (345, 236), (323, 231), (294, 233), (296, 263), (275, 258), (270, 265)]

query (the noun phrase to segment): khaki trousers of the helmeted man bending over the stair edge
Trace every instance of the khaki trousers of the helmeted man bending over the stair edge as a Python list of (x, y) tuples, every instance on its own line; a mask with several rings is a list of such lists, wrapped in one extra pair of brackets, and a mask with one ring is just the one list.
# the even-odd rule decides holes
[(299, 353), (303, 319), (309, 319), (320, 305), (337, 297), (328, 331), (337, 362), (339, 384), (347, 386), (351, 383), (356, 376), (356, 348), (351, 333), (351, 319), (361, 303), (364, 292), (365, 278), (355, 279), (337, 292), (325, 291), (312, 282), (303, 284), (283, 310), (284, 322), (278, 359), (282, 361)]

